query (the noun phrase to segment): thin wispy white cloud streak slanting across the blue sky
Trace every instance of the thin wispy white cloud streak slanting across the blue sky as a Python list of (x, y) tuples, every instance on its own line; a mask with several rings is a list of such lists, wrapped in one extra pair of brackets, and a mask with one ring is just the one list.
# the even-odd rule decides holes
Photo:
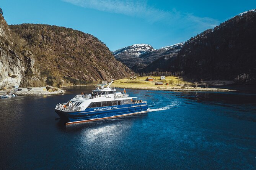
[(145, 19), (150, 23), (164, 22), (167, 25), (184, 24), (184, 27), (195, 27), (199, 29), (212, 28), (219, 21), (212, 18), (201, 18), (193, 14), (179, 13), (176, 10), (164, 11), (154, 6), (149, 6), (146, 1), (137, 0), (63, 0), (83, 8), (95, 9), (108, 13), (124, 14), (127, 16)]

